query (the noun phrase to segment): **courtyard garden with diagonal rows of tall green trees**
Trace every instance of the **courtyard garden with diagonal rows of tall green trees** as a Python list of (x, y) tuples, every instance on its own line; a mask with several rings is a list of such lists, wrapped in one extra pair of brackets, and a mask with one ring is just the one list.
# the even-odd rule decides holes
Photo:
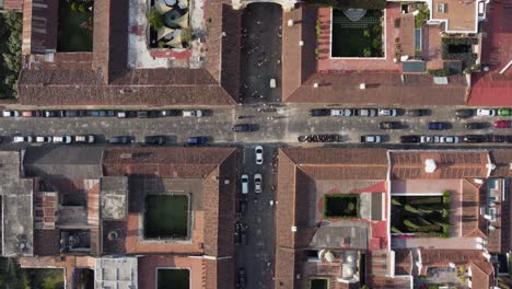
[(392, 197), (392, 233), (450, 236), (450, 193)]

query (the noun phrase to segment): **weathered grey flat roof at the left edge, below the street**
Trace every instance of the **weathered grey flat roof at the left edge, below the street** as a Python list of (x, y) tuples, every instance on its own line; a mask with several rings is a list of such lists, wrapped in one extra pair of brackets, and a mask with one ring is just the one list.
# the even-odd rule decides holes
[(0, 176), (2, 255), (31, 256), (34, 254), (34, 184), (32, 180), (20, 178), (19, 152), (0, 152)]

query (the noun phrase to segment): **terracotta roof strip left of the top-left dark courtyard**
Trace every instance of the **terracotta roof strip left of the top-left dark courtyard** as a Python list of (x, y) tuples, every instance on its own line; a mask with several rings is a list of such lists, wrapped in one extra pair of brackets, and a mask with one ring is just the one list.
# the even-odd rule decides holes
[(25, 0), (23, 3), (22, 53), (43, 54), (57, 49), (58, 1)]

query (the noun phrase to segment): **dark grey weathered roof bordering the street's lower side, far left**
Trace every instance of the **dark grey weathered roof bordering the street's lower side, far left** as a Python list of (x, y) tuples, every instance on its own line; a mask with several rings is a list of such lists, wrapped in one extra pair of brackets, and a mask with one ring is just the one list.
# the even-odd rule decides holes
[(23, 158), (26, 176), (93, 180), (102, 176), (103, 148), (30, 147)]

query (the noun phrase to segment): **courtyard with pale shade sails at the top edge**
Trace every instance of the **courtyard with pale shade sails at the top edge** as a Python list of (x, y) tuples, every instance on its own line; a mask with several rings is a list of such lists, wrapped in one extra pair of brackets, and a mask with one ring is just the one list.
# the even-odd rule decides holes
[(150, 48), (189, 48), (188, 0), (152, 0), (149, 13)]

